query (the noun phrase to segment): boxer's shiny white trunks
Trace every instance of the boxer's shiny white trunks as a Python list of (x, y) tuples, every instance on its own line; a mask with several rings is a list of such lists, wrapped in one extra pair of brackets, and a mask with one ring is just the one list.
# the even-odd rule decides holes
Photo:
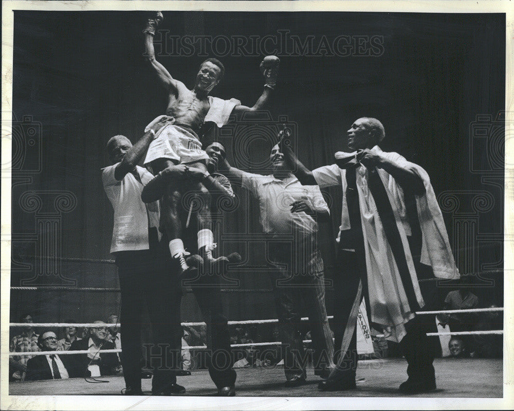
[(178, 164), (184, 164), (196, 163), (208, 159), (209, 156), (201, 149), (201, 142), (193, 130), (170, 121), (155, 133), (155, 138), (146, 152), (144, 165), (158, 158), (169, 158)]

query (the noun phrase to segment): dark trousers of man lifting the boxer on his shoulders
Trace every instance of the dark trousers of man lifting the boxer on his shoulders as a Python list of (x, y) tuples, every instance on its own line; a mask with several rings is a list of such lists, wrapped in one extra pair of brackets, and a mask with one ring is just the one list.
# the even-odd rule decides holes
[(223, 315), (221, 287), (216, 275), (200, 275), (191, 284), (201, 315), (207, 325), (207, 367), (216, 387), (235, 383), (236, 372), (230, 349), (227, 317)]

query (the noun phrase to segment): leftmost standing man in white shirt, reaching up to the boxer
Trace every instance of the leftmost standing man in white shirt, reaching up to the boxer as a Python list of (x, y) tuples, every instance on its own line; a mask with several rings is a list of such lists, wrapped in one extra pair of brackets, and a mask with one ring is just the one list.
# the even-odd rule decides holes
[(141, 395), (141, 324), (145, 305), (154, 337), (152, 394), (185, 392), (176, 384), (182, 336), (180, 287), (176, 272), (169, 270), (168, 243), (159, 242), (159, 205), (141, 201), (143, 186), (153, 175), (137, 166), (161, 127), (161, 122), (154, 122), (134, 146), (122, 135), (109, 139), (107, 152), (113, 165), (102, 172), (103, 187), (114, 208), (111, 253), (116, 258), (120, 280), (125, 395)]

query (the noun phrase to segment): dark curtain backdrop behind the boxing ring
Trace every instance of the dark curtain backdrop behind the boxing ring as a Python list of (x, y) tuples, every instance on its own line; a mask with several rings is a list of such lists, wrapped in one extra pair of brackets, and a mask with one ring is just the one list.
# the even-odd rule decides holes
[[(344, 150), (345, 131), (361, 116), (380, 119), (386, 128), (382, 148), (394, 150), (423, 166), (436, 194), (446, 190), (485, 190), (494, 205), (480, 213), (480, 233), (503, 233), (503, 182), (487, 183), (484, 173), (472, 173), (470, 163), (486, 167), (483, 150), (471, 150), (470, 124), (477, 115), (495, 118), (505, 107), (505, 16), (500, 14), (405, 13), (222, 13), (165, 12), (162, 29), (176, 35), (278, 35), (289, 30), (317, 42), (325, 35), (378, 35), (383, 52), (378, 57), (285, 56), (270, 112), (296, 123), (295, 148), (310, 168), (331, 164), (335, 151)], [(123, 134), (134, 142), (144, 126), (163, 114), (166, 95), (146, 65), (139, 12), (14, 12), (14, 121), (24, 116), (41, 126), (41, 153), (27, 154), (26, 162), (41, 160), (39, 172), (13, 172), (11, 285), (34, 275), (29, 256), (36, 253), (35, 212), (21, 206), (27, 191), (70, 191), (77, 204), (60, 214), (62, 256), (107, 259), (112, 234), (112, 208), (101, 184), (100, 169), (108, 165), (105, 144)], [(193, 85), (204, 57), (161, 56), (171, 74)], [(260, 56), (227, 56), (225, 79), (213, 95), (238, 98), (252, 105), (262, 92)], [(240, 121), (235, 123), (244, 125)], [(234, 123), (232, 124), (234, 125)], [(230, 130), (230, 129), (227, 129)], [(224, 133), (224, 130), (221, 131)], [(235, 139), (211, 134), (234, 156)], [(252, 158), (265, 159), (268, 139), (251, 139)], [(503, 146), (500, 144), (500, 158)], [(500, 169), (503, 164), (500, 164)], [(253, 170), (258, 172), (259, 170)], [(493, 178), (494, 180), (494, 178)], [(497, 185), (494, 185), (497, 184)], [(226, 234), (260, 233), (258, 207), (236, 189), (241, 206), (226, 215)], [(334, 267), (334, 238), (340, 223), (340, 190), (326, 191), (332, 224), (320, 227), (326, 275)], [(54, 212), (53, 199), (41, 195), (42, 212)], [(450, 228), (452, 215), (445, 213)], [(450, 237), (453, 232), (450, 229)], [(494, 236), (493, 236), (494, 237)], [(492, 238), (476, 250), (479, 267), (502, 267), (501, 240)], [(263, 266), (264, 248), (232, 240), (220, 251), (239, 249), (247, 265)], [(464, 246), (464, 245), (463, 245)], [(265, 264), (264, 264), (265, 265)], [(244, 268), (244, 267), (243, 267)], [(63, 263), (65, 277), (79, 287), (117, 287), (115, 267), (98, 263)], [(243, 289), (269, 289), (265, 272), (235, 270), (231, 276)], [(502, 304), (503, 279), (491, 274), (494, 287), (481, 287), (481, 302)], [(56, 276), (39, 277), (34, 284), (63, 284)], [(25, 284), (27, 285), (27, 284)], [(445, 294), (450, 289), (440, 291)], [(331, 290), (327, 306), (332, 311)], [(116, 312), (115, 293), (11, 293), (11, 319), (32, 312), (40, 321), (90, 321)], [(272, 318), (270, 293), (230, 293), (224, 300), (229, 319)], [(194, 298), (185, 298), (183, 320), (199, 320)]]

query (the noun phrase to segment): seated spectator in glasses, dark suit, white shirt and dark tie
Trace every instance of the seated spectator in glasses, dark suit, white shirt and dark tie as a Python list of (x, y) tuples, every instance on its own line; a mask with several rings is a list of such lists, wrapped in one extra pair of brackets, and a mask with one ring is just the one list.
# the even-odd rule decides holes
[[(38, 337), (41, 351), (57, 351), (59, 343), (57, 335), (50, 330), (43, 331)], [(27, 361), (27, 376), (25, 380), (59, 380), (80, 377), (76, 374), (72, 355), (46, 354), (36, 355)]]

